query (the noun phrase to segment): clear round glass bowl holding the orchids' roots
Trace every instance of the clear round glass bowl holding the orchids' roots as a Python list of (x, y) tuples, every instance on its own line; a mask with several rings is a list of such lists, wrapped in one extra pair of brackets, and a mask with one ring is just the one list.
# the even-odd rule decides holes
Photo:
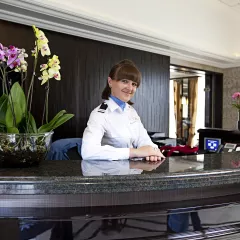
[(0, 167), (36, 166), (45, 159), (53, 132), (0, 133)]

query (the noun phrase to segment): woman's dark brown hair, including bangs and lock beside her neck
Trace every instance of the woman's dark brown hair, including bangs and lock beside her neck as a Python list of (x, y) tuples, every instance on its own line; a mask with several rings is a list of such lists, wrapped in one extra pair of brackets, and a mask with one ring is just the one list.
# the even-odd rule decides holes
[[(115, 64), (110, 70), (109, 77), (113, 80), (120, 81), (122, 79), (128, 79), (137, 83), (137, 87), (141, 83), (141, 73), (138, 70), (137, 66), (128, 59), (122, 60), (121, 62)], [(102, 99), (108, 100), (111, 95), (111, 88), (107, 85), (102, 92)], [(128, 101), (128, 104), (132, 105), (131, 101)]]

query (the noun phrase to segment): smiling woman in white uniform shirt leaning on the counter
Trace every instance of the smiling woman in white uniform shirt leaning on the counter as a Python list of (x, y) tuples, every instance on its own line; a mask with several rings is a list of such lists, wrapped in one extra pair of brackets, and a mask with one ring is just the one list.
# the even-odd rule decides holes
[(92, 111), (83, 134), (83, 159), (165, 158), (131, 106), (140, 82), (141, 73), (133, 62), (123, 60), (112, 67), (102, 93), (105, 101)]

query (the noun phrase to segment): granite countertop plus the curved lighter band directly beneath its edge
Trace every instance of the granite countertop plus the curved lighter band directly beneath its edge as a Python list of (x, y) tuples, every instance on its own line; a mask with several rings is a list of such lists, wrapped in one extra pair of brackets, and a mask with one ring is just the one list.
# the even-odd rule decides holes
[(0, 207), (182, 204), (236, 194), (240, 197), (238, 152), (169, 157), (157, 163), (55, 160), (38, 167), (0, 168)]

